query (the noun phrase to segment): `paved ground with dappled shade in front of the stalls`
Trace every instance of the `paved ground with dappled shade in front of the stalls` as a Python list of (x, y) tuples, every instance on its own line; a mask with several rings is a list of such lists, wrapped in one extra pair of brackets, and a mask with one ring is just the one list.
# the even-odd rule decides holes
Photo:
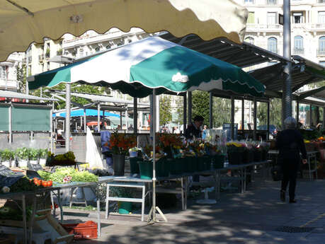
[(244, 194), (223, 193), (215, 205), (189, 200), (187, 211), (164, 211), (169, 223), (111, 215), (102, 220), (101, 238), (75, 243), (325, 243), (325, 180), (298, 181), (296, 204), (280, 202), (279, 187), (280, 182), (257, 181)]

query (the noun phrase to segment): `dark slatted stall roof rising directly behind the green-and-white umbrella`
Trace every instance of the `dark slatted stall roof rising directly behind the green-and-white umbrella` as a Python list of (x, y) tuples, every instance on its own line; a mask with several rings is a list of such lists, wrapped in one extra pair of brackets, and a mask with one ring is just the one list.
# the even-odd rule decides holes
[(165, 40), (175, 42), (191, 50), (201, 52), (215, 57), (224, 62), (234, 64), (241, 68), (262, 64), (264, 62), (287, 62), (285, 59), (274, 52), (264, 50), (261, 47), (251, 45), (247, 42), (237, 44), (224, 37), (218, 37), (213, 40), (202, 40), (198, 35), (187, 35), (186, 37), (174, 37), (171, 33), (159, 35)]

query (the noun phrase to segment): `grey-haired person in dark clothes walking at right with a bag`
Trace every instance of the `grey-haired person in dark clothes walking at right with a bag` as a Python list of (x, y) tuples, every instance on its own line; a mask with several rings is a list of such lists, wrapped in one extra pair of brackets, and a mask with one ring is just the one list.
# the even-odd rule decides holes
[(295, 189), (297, 172), (300, 165), (300, 153), (302, 163), (307, 163), (307, 152), (304, 146), (302, 134), (297, 130), (297, 121), (293, 117), (285, 119), (285, 129), (278, 134), (276, 146), (279, 150), (278, 162), (283, 170), (281, 182), (280, 200), (285, 202), (285, 192), (289, 183), (289, 202), (295, 203)]

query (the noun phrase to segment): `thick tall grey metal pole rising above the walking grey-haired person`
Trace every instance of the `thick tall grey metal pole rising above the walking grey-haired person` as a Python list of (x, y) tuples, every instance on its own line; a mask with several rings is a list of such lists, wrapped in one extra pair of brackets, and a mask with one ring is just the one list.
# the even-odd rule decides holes
[[(290, 24), (290, 0), (283, 1), (283, 57), (291, 60), (291, 24)], [(283, 83), (283, 127), (284, 120), (292, 116), (292, 92), (291, 92), (291, 62), (287, 62), (284, 69), (285, 82)]]

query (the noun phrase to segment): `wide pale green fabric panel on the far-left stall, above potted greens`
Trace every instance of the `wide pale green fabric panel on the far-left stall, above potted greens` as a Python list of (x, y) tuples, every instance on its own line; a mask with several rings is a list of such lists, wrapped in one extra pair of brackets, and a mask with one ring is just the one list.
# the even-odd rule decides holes
[(50, 108), (13, 107), (13, 131), (50, 131)]

